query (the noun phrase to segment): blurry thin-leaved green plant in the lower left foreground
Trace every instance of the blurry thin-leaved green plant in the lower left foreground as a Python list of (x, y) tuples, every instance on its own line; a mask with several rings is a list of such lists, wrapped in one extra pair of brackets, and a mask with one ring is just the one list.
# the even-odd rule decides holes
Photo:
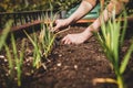
[(22, 62), (23, 62), (23, 54), (24, 54), (24, 40), (22, 41), (21, 50), (18, 51), (14, 36), (13, 34), (11, 34), (12, 52), (10, 51), (10, 47), (7, 44), (4, 44), (4, 47), (6, 47), (6, 55), (7, 55), (8, 63), (9, 63), (10, 78), (11, 80), (16, 78), (16, 73), (14, 73), (14, 69), (16, 69), (18, 86), (21, 86)]

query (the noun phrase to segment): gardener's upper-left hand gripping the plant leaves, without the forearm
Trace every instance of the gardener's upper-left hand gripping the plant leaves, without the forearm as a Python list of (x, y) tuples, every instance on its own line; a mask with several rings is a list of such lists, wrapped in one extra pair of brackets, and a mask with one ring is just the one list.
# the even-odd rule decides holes
[(55, 26), (53, 29), (53, 31), (58, 32), (60, 30), (66, 29), (70, 24), (68, 19), (63, 19), (63, 20), (55, 20)]

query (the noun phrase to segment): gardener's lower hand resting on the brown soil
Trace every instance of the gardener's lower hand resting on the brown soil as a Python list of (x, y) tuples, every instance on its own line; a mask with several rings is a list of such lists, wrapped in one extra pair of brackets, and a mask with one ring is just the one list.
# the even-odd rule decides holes
[(82, 32), (76, 34), (68, 34), (62, 38), (64, 44), (81, 44), (92, 36), (91, 32)]

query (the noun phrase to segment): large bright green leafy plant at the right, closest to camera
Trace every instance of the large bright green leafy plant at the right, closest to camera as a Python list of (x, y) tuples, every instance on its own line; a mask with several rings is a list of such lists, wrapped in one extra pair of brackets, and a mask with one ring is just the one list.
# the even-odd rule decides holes
[[(123, 28), (121, 19), (124, 18), (123, 21)], [(125, 35), (125, 30), (127, 25), (127, 20), (126, 20), (126, 12), (123, 11), (123, 13), (120, 15), (119, 21), (115, 19), (115, 11), (112, 13), (112, 18), (109, 20), (109, 22), (105, 24), (104, 19), (101, 19), (101, 33), (94, 33), (96, 37), (100, 41), (100, 44), (103, 47), (103, 51), (110, 61), (111, 65), (113, 66), (114, 73), (116, 75), (116, 80), (115, 79), (109, 79), (112, 82), (116, 82), (119, 88), (125, 88), (124, 85), (124, 79), (123, 79), (123, 74), (126, 69), (126, 66), (129, 64), (130, 56), (133, 52), (133, 42), (123, 57), (122, 62), (120, 62), (120, 50), (122, 47), (122, 44), (124, 42), (124, 35)]]

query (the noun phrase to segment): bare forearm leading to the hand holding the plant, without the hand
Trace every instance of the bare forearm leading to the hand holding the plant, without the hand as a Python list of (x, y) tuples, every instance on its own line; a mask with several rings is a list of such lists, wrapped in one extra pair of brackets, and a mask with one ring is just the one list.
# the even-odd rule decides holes
[(69, 23), (74, 23), (83, 18), (90, 10), (92, 10), (93, 7), (94, 6), (92, 6), (90, 2), (83, 0), (78, 10), (70, 18), (68, 18)]

